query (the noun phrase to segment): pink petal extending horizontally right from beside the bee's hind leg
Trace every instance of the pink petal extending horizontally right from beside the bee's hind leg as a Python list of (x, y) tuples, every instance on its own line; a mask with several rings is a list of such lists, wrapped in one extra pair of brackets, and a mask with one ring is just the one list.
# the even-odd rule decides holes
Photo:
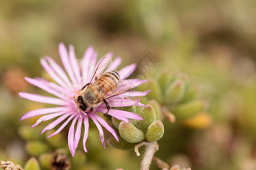
[(129, 107), (131, 105), (137, 105), (139, 103), (139, 99), (134, 101), (129, 99), (112, 98), (108, 99), (108, 103), (110, 107)]

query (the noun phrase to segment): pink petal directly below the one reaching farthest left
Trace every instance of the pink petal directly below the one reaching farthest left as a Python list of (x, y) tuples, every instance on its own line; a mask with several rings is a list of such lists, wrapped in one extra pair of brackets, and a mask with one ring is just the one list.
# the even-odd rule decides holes
[(27, 112), (26, 114), (23, 114), (23, 116), (20, 118), (20, 121), (39, 116), (42, 114), (48, 114), (48, 113), (55, 113), (55, 112), (60, 112), (68, 109), (67, 107), (55, 107), (55, 108), (43, 108), (43, 109), (36, 109), (34, 111)]

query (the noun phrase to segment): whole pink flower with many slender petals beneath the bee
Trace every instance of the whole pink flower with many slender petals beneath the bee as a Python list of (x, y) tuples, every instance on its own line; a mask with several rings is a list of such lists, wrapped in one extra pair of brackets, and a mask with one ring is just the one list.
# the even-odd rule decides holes
[[(39, 115), (44, 115), (40, 117), (34, 125), (32, 125), (32, 127), (35, 127), (42, 121), (52, 120), (53, 118), (56, 118), (56, 120), (52, 121), (50, 124), (46, 126), (46, 128), (42, 130), (42, 133), (44, 133), (44, 131), (53, 129), (55, 128), (55, 126), (62, 124), (60, 128), (57, 129), (55, 133), (49, 135), (48, 138), (58, 134), (68, 124), (68, 122), (72, 120), (72, 124), (68, 132), (68, 146), (72, 156), (75, 156), (75, 151), (80, 141), (82, 124), (84, 124), (85, 129), (82, 144), (84, 147), (84, 151), (87, 152), (85, 143), (86, 139), (88, 138), (89, 117), (92, 119), (92, 121), (94, 122), (94, 124), (96, 124), (98, 128), (101, 142), (104, 148), (105, 142), (102, 126), (104, 126), (106, 130), (112, 133), (114, 138), (118, 141), (118, 136), (115, 133), (114, 129), (112, 129), (103, 118), (101, 118), (100, 116), (98, 116), (97, 113), (95, 113), (106, 113), (108, 111), (106, 109), (106, 105), (103, 102), (100, 106), (94, 108), (94, 111), (84, 113), (79, 108), (77, 108), (77, 105), (73, 98), (75, 95), (77, 95), (75, 91), (80, 91), (81, 88), (85, 84), (89, 83), (92, 79), (94, 71), (96, 70), (96, 67), (98, 65), (97, 52), (95, 52), (93, 47), (90, 46), (84, 53), (82, 59), (78, 61), (73, 46), (69, 45), (68, 51), (65, 48), (65, 45), (63, 43), (60, 43), (59, 53), (65, 70), (63, 70), (51, 57), (46, 56), (41, 59), (41, 64), (44, 70), (47, 71), (47, 73), (51, 76), (53, 80), (55, 80), (56, 83), (48, 82), (47, 80), (44, 80), (42, 78), (25, 78), (28, 83), (41, 88), (42, 90), (48, 92), (49, 94), (55, 97), (19, 92), (20, 97), (26, 98), (28, 100), (37, 101), (40, 103), (54, 104), (57, 106), (52, 108), (36, 109), (34, 111), (27, 112), (20, 118), (20, 120), (24, 120), (26, 118), (31, 118)], [(113, 54), (108, 53), (107, 55), (112, 57)], [(112, 63), (110, 63), (108, 68), (104, 67), (101, 69), (104, 69), (105, 71), (115, 70), (117, 69), (120, 63), (121, 58), (117, 57), (114, 59)], [(130, 86), (131, 88), (134, 88), (146, 82), (146, 80), (126, 79), (131, 73), (133, 73), (135, 67), (135, 64), (131, 64), (129, 66), (123, 67), (123, 69), (118, 71), (120, 76), (120, 83), (125, 84), (125, 86)], [(148, 94), (148, 92), (149, 91), (127, 91), (123, 94), (110, 97), (107, 100), (110, 107), (127, 107), (131, 105), (138, 105), (142, 107), (144, 105), (139, 103), (139, 99), (134, 101), (127, 99), (127, 97), (145, 96)], [(118, 109), (111, 108), (108, 114), (110, 116), (117, 118), (118, 120), (126, 122), (129, 122), (129, 119), (142, 120), (142, 117), (138, 114)], [(76, 123), (77, 125), (75, 130)]]

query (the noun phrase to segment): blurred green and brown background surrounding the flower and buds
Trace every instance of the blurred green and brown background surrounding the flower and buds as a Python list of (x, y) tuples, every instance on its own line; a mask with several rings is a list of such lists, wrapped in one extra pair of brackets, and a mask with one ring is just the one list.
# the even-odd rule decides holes
[[(48, 153), (59, 147), (40, 135), (46, 124), (31, 130), (36, 119), (19, 122), (22, 114), (45, 105), (17, 95), (42, 93), (23, 77), (46, 76), (39, 60), (44, 55), (60, 63), (59, 42), (73, 44), (78, 58), (89, 45), (99, 56), (114, 52), (122, 57), (121, 66), (138, 63), (151, 52), (161, 62), (156, 70), (182, 71), (203, 87), (213, 123), (195, 130), (164, 122), (156, 156), (168, 164), (199, 170), (256, 169), (256, 1), (2, 1), (0, 160), (23, 166), (31, 156), (47, 157), (30, 152), (37, 146), (33, 141), (43, 141)], [(63, 138), (64, 148), (66, 134), (56, 136)], [(88, 154), (80, 145), (71, 159), (75, 169), (139, 167), (141, 158), (133, 151), (111, 146), (104, 150), (94, 126), (87, 146)], [(152, 169), (158, 169), (154, 163)]]

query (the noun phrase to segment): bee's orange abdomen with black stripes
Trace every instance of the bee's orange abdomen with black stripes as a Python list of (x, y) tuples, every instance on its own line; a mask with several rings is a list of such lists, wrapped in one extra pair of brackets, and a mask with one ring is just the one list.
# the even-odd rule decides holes
[(120, 76), (117, 71), (112, 70), (104, 73), (96, 81), (96, 84), (100, 90), (105, 94), (105, 92), (112, 92), (118, 86)]

